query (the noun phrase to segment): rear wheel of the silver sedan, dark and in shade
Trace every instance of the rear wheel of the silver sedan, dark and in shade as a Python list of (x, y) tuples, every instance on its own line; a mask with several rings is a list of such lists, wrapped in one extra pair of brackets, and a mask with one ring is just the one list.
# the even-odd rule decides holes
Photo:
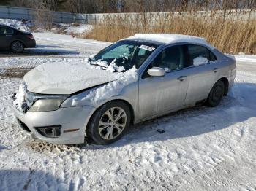
[(222, 80), (217, 81), (214, 87), (211, 88), (211, 92), (208, 95), (207, 103), (208, 106), (214, 107), (219, 105), (222, 101), (222, 97), (225, 93), (225, 84)]

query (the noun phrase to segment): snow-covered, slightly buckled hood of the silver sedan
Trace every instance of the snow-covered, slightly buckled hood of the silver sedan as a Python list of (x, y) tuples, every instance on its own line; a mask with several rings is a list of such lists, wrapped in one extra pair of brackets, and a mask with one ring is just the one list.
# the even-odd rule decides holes
[(122, 75), (89, 63), (45, 63), (29, 71), (24, 81), (27, 90), (33, 93), (69, 95), (114, 81)]

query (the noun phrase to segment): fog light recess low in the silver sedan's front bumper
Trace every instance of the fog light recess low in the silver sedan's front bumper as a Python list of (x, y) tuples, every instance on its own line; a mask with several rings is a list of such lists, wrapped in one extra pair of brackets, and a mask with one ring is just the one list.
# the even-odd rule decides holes
[(50, 138), (56, 138), (56, 137), (59, 137), (61, 135), (61, 125), (53, 125), (53, 126), (47, 126), (47, 127), (37, 127), (35, 129), (42, 136), (46, 136), (46, 137), (50, 137)]

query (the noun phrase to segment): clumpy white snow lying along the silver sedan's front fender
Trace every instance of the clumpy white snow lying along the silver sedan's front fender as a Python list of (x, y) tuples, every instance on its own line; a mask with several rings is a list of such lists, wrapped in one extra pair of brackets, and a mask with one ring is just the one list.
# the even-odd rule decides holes
[(123, 77), (91, 91), (85, 98), (82, 98), (82, 101), (91, 100), (91, 105), (97, 106), (100, 101), (118, 95), (125, 86), (138, 80), (138, 73), (136, 71), (137, 69), (133, 66), (132, 69), (124, 72)]

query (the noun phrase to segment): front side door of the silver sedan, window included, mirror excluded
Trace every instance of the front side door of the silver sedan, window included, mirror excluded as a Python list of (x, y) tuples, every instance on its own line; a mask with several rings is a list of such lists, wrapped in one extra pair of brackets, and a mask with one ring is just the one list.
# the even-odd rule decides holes
[[(189, 79), (184, 46), (167, 47), (154, 58), (139, 81), (140, 119), (157, 116), (184, 106)], [(165, 69), (164, 77), (151, 77), (152, 67)]]

